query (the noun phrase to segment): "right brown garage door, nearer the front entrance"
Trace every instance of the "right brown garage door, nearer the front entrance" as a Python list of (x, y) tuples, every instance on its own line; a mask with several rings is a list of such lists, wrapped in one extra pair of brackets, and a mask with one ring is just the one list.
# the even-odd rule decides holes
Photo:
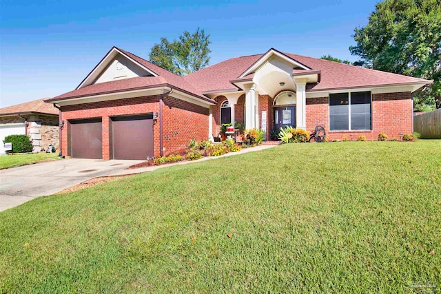
[(152, 157), (152, 116), (113, 117), (111, 141), (114, 159), (145, 160)]

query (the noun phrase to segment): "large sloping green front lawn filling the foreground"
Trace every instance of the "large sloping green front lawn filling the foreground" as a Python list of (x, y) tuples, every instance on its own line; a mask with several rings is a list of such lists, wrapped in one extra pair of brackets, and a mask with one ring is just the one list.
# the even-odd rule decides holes
[(441, 140), (166, 167), (0, 213), (0, 290), (440, 291), (440, 191)]

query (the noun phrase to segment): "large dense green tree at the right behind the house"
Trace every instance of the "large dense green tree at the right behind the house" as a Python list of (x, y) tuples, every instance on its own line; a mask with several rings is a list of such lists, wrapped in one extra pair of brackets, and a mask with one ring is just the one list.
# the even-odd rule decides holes
[(356, 28), (351, 54), (366, 67), (433, 79), (416, 95), (416, 109), (441, 107), (441, 1), (384, 0), (376, 4), (369, 23)]

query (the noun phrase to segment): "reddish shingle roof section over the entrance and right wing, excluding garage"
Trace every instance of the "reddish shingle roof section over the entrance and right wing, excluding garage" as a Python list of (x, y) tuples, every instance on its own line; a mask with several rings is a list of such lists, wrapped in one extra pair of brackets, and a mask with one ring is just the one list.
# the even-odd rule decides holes
[[(401, 74), (369, 70), (363, 67), (356, 67), (344, 63), (316, 59), (297, 54), (284, 53), (311, 70), (320, 71), (320, 83), (308, 85), (308, 91), (331, 90), (345, 87), (362, 87), (377, 85), (395, 85), (404, 83), (428, 83), (421, 78), (412, 78)], [(251, 67), (264, 54), (243, 56), (205, 67), (203, 70), (184, 76), (185, 80), (191, 83), (198, 91), (208, 92), (214, 90), (236, 89), (230, 81), (238, 81), (238, 76)], [(296, 73), (299, 70), (294, 70)], [(293, 71), (293, 72), (294, 72)], [(305, 73), (307, 70), (302, 70)], [(250, 78), (252, 74), (242, 79)]]

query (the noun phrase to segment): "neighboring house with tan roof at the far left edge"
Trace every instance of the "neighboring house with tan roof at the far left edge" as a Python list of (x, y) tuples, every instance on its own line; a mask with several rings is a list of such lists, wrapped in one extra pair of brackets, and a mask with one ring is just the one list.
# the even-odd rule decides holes
[(9, 135), (28, 135), (34, 152), (59, 145), (59, 110), (39, 99), (0, 108), (0, 154), (5, 154), (3, 140)]

